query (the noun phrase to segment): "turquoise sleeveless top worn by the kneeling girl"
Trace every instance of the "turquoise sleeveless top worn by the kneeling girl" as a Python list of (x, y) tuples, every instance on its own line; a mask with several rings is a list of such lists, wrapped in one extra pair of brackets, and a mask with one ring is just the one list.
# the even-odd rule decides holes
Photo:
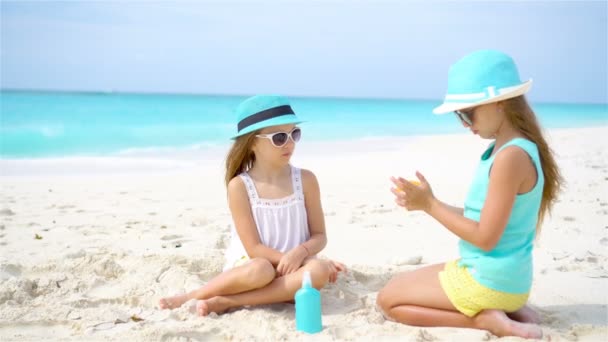
[[(545, 178), (536, 144), (523, 138), (515, 138), (500, 150), (513, 145), (526, 151), (534, 162), (537, 171), (536, 184), (531, 191), (516, 196), (503, 235), (491, 251), (486, 252), (467, 241), (460, 240), (459, 265), (468, 268), (473, 278), (486, 287), (507, 293), (523, 294), (528, 293), (532, 286), (532, 248)], [(464, 204), (464, 216), (477, 222), (481, 217), (481, 209), (488, 192), (490, 169), (494, 158), (500, 152), (498, 150), (492, 155), (493, 150), (494, 143), (481, 156)]]

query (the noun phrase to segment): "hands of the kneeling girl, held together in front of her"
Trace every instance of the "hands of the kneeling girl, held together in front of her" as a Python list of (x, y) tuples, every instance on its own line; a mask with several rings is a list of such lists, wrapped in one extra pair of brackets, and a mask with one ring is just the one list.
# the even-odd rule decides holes
[(401, 177), (391, 177), (391, 181), (396, 186), (395, 188), (391, 188), (391, 192), (395, 195), (395, 203), (397, 205), (407, 210), (427, 211), (431, 206), (432, 200), (435, 198), (433, 190), (420, 172), (416, 171), (416, 177), (420, 180), (420, 185), (416, 185)]

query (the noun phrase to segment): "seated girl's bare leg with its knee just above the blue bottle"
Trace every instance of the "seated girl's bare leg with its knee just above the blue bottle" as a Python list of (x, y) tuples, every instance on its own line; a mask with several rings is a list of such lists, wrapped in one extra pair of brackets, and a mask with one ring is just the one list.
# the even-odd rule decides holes
[(221, 295), (197, 303), (199, 315), (211, 312), (222, 313), (228, 309), (244, 305), (281, 303), (293, 300), (296, 291), (302, 286), (302, 274), (310, 271), (312, 285), (321, 289), (329, 280), (328, 261), (311, 259), (294, 273), (274, 279), (265, 287), (234, 295)]

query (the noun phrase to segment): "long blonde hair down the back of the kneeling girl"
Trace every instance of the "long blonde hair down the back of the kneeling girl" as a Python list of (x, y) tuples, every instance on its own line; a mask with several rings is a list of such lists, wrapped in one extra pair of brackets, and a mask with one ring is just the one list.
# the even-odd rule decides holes
[(553, 156), (553, 150), (547, 144), (538, 120), (536, 119), (536, 115), (525, 97), (521, 95), (503, 101), (503, 109), (513, 127), (521, 132), (528, 140), (534, 142), (538, 147), (540, 164), (543, 168), (543, 175), (545, 177), (543, 197), (540, 202), (538, 224), (536, 226), (536, 233), (538, 236), (545, 215), (551, 212), (551, 208), (562, 188), (564, 179)]

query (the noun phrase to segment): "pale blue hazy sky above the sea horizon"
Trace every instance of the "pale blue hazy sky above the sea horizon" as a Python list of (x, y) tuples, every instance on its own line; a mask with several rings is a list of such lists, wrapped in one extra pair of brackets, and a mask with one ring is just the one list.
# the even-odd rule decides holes
[(608, 102), (606, 1), (1, 1), (1, 86), (441, 99), (507, 52), (530, 97)]

